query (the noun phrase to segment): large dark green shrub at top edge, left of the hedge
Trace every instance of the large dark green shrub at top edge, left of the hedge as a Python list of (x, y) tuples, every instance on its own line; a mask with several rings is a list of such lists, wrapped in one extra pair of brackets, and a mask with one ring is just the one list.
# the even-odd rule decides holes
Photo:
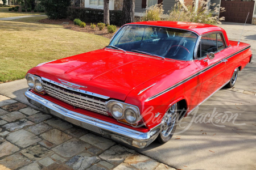
[(67, 18), (68, 6), (71, 5), (70, 0), (40, 0), (40, 3), (49, 19)]

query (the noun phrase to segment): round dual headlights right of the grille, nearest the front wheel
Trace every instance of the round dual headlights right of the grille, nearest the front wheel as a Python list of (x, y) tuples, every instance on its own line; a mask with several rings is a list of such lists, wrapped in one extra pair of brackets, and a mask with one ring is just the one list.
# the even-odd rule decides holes
[(139, 121), (141, 121), (139, 108), (134, 105), (115, 100), (109, 100), (106, 104), (106, 107), (108, 112), (111, 113), (112, 116), (119, 121), (125, 120), (129, 124), (137, 124)]

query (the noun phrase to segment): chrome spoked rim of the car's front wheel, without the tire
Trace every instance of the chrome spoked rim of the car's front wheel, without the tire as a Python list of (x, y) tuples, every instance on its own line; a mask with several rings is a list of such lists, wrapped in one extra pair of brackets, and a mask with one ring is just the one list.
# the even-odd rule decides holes
[(177, 120), (177, 103), (172, 105), (168, 109), (166, 114), (164, 114), (163, 129), (162, 129), (162, 136), (164, 138), (169, 137), (173, 133), (176, 120)]

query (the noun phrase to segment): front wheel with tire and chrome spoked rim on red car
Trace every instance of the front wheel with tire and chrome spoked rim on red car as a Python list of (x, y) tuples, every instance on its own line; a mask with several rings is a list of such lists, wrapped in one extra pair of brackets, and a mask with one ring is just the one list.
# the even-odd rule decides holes
[(176, 122), (177, 119), (179, 118), (177, 108), (178, 105), (177, 103), (175, 103), (168, 109), (166, 114), (164, 114), (162, 120), (162, 132), (158, 135), (158, 141), (160, 143), (168, 142), (174, 135), (174, 131), (176, 129)]

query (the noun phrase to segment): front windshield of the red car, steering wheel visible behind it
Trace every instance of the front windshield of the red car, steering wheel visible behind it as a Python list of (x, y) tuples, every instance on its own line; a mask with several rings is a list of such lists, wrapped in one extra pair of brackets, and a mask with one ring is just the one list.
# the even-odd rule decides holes
[(193, 32), (180, 29), (126, 25), (109, 45), (130, 52), (189, 61), (193, 59), (197, 37)]

